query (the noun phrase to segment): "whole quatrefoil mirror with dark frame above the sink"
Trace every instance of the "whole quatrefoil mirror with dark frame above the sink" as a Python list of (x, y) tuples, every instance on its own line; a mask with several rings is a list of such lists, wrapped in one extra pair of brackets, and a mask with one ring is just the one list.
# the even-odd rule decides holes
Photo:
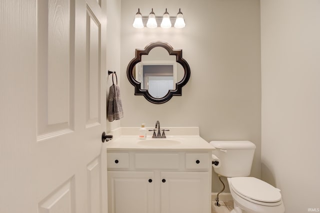
[(144, 49), (135, 49), (135, 58), (128, 64), (126, 75), (134, 86), (134, 95), (162, 104), (173, 95), (182, 94), (182, 86), (190, 78), (190, 67), (182, 58), (182, 50), (154, 41)]

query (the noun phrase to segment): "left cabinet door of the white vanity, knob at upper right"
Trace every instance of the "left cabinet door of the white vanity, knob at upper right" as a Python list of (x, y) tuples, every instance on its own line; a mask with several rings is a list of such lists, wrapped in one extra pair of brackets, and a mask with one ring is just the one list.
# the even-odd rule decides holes
[(108, 213), (154, 213), (153, 172), (108, 171)]

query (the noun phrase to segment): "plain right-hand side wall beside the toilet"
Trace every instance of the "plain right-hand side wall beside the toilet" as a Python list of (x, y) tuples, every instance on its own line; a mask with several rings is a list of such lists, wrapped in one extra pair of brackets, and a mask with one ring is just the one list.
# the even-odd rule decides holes
[(320, 0), (261, 0), (262, 178), (320, 208)]

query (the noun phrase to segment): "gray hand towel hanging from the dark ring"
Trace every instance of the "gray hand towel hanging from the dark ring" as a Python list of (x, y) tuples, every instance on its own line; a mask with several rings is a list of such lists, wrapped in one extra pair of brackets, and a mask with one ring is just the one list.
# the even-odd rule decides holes
[(106, 114), (108, 121), (119, 120), (120, 118), (123, 118), (120, 88), (118, 85), (112, 84), (112, 86), (110, 86)]

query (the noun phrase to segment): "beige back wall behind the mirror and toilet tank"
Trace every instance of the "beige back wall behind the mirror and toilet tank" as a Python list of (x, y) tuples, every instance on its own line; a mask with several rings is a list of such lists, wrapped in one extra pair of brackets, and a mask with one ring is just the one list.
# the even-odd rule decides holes
[[(181, 7), (186, 27), (135, 29), (132, 22), (138, 7), (142, 15), (153, 7), (157, 16), (165, 7), (174, 16)], [(182, 96), (164, 104), (134, 96), (126, 77), (135, 48), (155, 40), (182, 49), (191, 69)], [(159, 120), (163, 127), (198, 126), (206, 141), (250, 140), (257, 147), (251, 174), (260, 177), (259, 0), (122, 0), (120, 54), (121, 127), (137, 127), (142, 122), (153, 127)], [(212, 192), (220, 188), (213, 174)]]

